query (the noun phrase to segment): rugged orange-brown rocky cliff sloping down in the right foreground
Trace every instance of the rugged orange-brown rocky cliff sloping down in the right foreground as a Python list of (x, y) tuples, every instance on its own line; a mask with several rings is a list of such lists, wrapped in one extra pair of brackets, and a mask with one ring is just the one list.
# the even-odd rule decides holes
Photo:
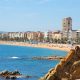
[(80, 79), (80, 47), (71, 49), (60, 63), (40, 80), (76, 80)]

